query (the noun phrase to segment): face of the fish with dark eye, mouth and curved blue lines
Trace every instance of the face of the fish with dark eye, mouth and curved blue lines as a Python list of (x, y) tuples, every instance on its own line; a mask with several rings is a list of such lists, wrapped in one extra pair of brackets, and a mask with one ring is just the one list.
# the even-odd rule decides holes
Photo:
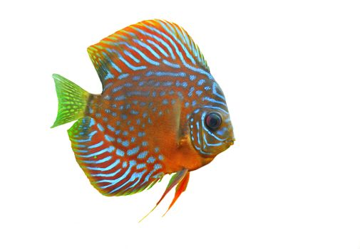
[(205, 106), (189, 118), (192, 146), (205, 158), (216, 157), (234, 144), (235, 137), (227, 110)]

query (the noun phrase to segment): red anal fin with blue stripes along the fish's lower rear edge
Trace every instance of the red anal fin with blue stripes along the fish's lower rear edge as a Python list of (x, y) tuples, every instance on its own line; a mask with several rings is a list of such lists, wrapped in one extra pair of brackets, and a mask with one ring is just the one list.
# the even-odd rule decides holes
[(79, 166), (105, 196), (135, 194), (161, 179), (155, 177), (159, 175), (155, 169), (139, 167), (137, 161), (125, 157), (91, 117), (78, 120), (68, 129), (68, 135)]

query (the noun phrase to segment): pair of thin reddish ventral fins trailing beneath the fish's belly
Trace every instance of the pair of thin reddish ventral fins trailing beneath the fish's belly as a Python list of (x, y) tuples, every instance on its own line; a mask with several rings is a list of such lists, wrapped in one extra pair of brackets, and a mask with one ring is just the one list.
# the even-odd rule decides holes
[[(179, 198), (180, 194), (185, 191), (186, 186), (187, 186), (187, 182), (189, 181), (189, 176), (190, 176), (190, 172), (187, 169), (182, 169), (181, 171), (176, 172), (170, 179), (168, 186), (165, 189), (165, 192), (163, 194), (163, 196), (161, 196), (160, 200), (158, 201), (158, 203), (156, 203), (155, 207), (153, 209), (151, 209), (151, 211), (144, 216), (139, 222), (143, 221), (143, 219), (145, 219), (146, 217), (148, 217), (148, 215), (153, 212), (155, 210), (155, 208), (160, 204), (161, 201), (163, 201), (163, 198), (169, 193), (169, 191), (171, 189), (173, 189), (174, 186), (178, 185), (176, 187), (176, 192), (175, 192), (175, 196), (173, 198), (173, 201), (170, 203), (170, 206), (168, 208), (168, 211), (170, 210), (170, 208), (173, 206), (173, 204), (175, 203), (175, 201)], [(166, 211), (166, 213), (168, 213), (168, 211)], [(166, 214), (165, 213), (165, 214)], [(164, 214), (164, 216), (165, 216)]]

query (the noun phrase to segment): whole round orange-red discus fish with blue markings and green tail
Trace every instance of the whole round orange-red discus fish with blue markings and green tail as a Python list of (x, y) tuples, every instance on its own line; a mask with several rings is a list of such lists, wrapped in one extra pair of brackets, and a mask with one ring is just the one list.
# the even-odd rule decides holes
[(175, 173), (160, 198), (176, 186), (169, 210), (190, 171), (235, 140), (220, 86), (192, 38), (168, 21), (123, 28), (88, 54), (103, 91), (91, 94), (54, 74), (52, 127), (77, 120), (68, 129), (76, 161), (105, 196), (135, 194)]

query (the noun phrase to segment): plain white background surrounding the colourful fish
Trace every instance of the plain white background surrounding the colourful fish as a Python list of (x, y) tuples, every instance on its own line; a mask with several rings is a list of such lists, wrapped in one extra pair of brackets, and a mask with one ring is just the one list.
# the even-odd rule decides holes
[[(2, 1), (0, 248), (360, 248), (359, 1)], [(52, 73), (149, 18), (190, 33), (237, 141), (143, 223), (169, 176), (108, 198), (76, 164)]]

